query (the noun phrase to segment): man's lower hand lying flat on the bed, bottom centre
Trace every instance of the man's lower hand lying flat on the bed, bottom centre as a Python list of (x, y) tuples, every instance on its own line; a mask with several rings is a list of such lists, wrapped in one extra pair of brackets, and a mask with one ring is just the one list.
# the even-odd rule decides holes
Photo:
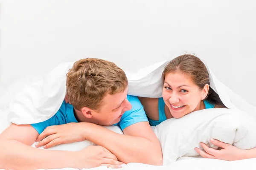
[(86, 147), (83, 150), (74, 152), (73, 156), (76, 160), (74, 162), (74, 167), (79, 169), (99, 166), (121, 168), (121, 164), (124, 164), (120, 161), (117, 161), (116, 156), (102, 146)]

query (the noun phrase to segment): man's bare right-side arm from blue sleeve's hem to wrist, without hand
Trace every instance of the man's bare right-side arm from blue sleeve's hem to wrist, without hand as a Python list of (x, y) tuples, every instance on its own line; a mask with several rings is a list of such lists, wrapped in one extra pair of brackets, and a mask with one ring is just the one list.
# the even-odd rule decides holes
[(126, 127), (125, 135), (115, 133), (99, 125), (84, 125), (86, 139), (101, 145), (124, 163), (137, 162), (163, 165), (160, 142), (148, 122), (138, 122)]

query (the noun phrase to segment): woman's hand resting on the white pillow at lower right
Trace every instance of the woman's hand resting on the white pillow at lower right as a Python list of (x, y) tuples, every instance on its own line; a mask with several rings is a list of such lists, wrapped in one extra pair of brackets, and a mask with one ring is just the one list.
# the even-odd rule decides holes
[(221, 147), (222, 149), (215, 150), (208, 147), (204, 143), (200, 143), (200, 145), (204, 148), (205, 152), (197, 147), (195, 148), (195, 150), (203, 158), (222, 159), (226, 161), (246, 159), (245, 150), (238, 149), (231, 144), (227, 144), (216, 139), (211, 139), (210, 142), (215, 146)]

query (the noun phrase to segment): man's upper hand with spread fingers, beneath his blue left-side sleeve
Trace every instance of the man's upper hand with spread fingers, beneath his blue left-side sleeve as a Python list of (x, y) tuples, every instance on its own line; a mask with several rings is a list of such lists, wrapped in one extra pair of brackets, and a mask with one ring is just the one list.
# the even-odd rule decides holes
[(49, 126), (38, 136), (35, 147), (44, 146), (47, 149), (58, 144), (84, 141), (84, 125), (85, 123), (68, 123)]

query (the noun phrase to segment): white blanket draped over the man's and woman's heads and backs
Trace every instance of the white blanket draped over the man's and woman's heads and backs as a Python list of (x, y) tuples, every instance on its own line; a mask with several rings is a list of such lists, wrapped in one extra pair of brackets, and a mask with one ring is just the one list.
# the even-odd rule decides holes
[[(174, 57), (175, 58), (175, 57)], [(162, 96), (161, 74), (168, 61), (158, 62), (131, 74), (128, 77), (128, 94), (144, 97)], [(8, 119), (15, 124), (43, 122), (52, 117), (60, 108), (66, 93), (66, 74), (73, 62), (62, 63), (53, 69), (41, 81), (26, 85), (11, 102)], [(256, 115), (256, 108), (244, 101), (221, 83), (209, 70), (210, 87), (219, 94), (227, 108), (238, 108)]]

